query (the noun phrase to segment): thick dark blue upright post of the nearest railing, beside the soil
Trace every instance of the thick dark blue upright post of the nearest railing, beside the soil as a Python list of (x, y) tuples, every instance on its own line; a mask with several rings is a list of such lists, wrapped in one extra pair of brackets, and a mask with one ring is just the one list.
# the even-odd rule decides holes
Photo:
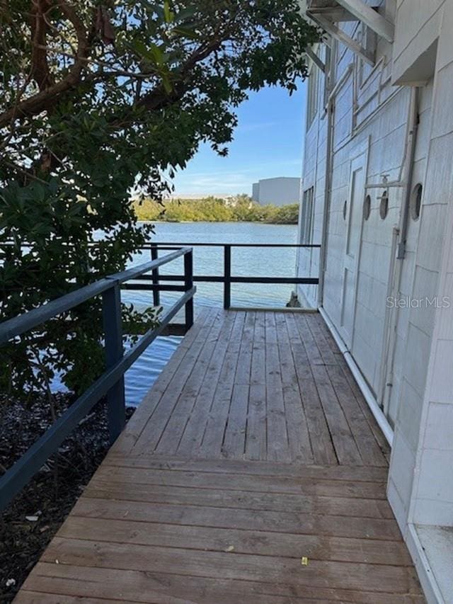
[[(103, 324), (105, 333), (105, 365), (107, 369), (122, 358), (122, 325), (120, 284), (103, 293)], [(107, 416), (110, 443), (114, 443), (126, 422), (124, 375), (107, 393)]]

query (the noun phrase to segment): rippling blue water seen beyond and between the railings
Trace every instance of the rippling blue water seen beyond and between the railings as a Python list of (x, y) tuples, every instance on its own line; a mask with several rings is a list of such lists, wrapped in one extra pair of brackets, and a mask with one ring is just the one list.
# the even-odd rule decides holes
[[(178, 242), (292, 244), (297, 241), (294, 224), (260, 224), (257, 222), (159, 222), (155, 225), (153, 241), (173, 244)], [(162, 251), (161, 253), (169, 253)], [(134, 256), (132, 265), (149, 260), (149, 252)], [(222, 275), (223, 248), (194, 248), (194, 274)], [(243, 276), (294, 276), (296, 249), (294, 248), (236, 248), (231, 250), (231, 274)], [(161, 270), (162, 274), (183, 274), (183, 261), (174, 261)], [(205, 306), (222, 306), (222, 283), (197, 283), (195, 313)], [(231, 285), (231, 304), (241, 307), (285, 307), (292, 285)], [(179, 292), (161, 292), (161, 303), (172, 304)], [(124, 291), (122, 300), (136, 307), (151, 305), (151, 292)], [(126, 372), (127, 404), (137, 405), (154, 383), (168, 359), (178, 347), (181, 338), (161, 337), (149, 346)]]

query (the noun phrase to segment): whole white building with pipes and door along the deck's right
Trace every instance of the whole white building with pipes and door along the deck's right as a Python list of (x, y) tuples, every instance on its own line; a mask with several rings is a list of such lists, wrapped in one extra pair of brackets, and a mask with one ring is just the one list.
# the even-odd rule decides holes
[[(391, 443), (387, 496), (429, 603), (453, 603), (453, 0), (301, 0), (299, 300)], [(371, 600), (370, 600), (371, 601)]]

